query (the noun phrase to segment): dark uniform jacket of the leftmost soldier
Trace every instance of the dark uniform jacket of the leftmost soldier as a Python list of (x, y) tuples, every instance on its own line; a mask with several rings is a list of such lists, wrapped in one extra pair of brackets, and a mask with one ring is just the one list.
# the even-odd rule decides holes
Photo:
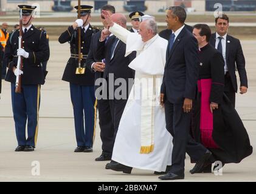
[[(12, 35), (13, 34), (13, 35)], [(15, 30), (7, 41), (4, 53), (4, 63), (8, 67), (5, 81), (15, 83), (16, 76), (13, 67), (18, 62), (17, 49), (19, 47), (19, 30)], [(44, 84), (46, 72), (42, 69), (42, 62), (47, 61), (50, 56), (49, 44), (43, 31), (36, 29), (33, 25), (23, 35), (23, 48), (29, 53), (29, 58), (23, 58), (22, 84)]]

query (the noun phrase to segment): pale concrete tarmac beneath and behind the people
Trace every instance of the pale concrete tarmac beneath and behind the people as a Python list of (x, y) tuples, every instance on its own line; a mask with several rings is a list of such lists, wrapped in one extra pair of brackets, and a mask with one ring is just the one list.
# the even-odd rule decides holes
[[(256, 147), (256, 41), (241, 41), (246, 57), (249, 89), (237, 94), (237, 111)], [(3, 81), (0, 99), (0, 182), (2, 181), (158, 181), (149, 170), (133, 169), (131, 175), (106, 170), (107, 162), (95, 162), (102, 152), (97, 121), (94, 152), (74, 153), (76, 147), (74, 118), (69, 84), (61, 81), (69, 45), (50, 41), (50, 60), (46, 84), (41, 87), (38, 144), (35, 152), (14, 152), (17, 146), (12, 117), (10, 83)], [(237, 75), (238, 76), (238, 75)], [(239, 78), (239, 76), (238, 76)], [(131, 142), (132, 143), (132, 142)], [(125, 152), (125, 150), (123, 150)], [(136, 159), (136, 158), (134, 158)], [(189, 156), (185, 161), (183, 181), (256, 181), (256, 154), (240, 164), (227, 164), (222, 175), (191, 175)], [(35, 166), (32, 166), (35, 165)], [(38, 169), (35, 173), (35, 168)]]

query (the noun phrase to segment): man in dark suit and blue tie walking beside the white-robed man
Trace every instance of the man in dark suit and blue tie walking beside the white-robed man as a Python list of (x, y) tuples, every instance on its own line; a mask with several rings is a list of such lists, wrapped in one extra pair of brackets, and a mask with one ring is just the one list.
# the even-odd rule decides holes
[(185, 28), (184, 8), (170, 7), (166, 22), (172, 30), (167, 46), (164, 78), (161, 86), (161, 104), (165, 107), (168, 132), (173, 136), (170, 171), (162, 180), (184, 179), (185, 153), (197, 161), (193, 172), (201, 170), (212, 153), (195, 142), (189, 134), (192, 100), (198, 79), (198, 42)]

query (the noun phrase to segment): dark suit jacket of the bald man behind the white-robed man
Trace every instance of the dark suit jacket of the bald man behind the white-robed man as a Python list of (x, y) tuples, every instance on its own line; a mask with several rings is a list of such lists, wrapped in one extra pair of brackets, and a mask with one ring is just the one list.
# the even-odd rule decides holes
[(109, 73), (114, 73), (114, 79), (117, 78), (134, 78), (134, 70), (130, 69), (128, 65), (136, 57), (134, 53), (125, 57), (126, 45), (122, 41), (116, 46), (114, 50), (114, 57), (111, 59), (111, 47), (116, 36), (111, 36), (108, 41), (98, 41), (97, 59), (106, 59), (106, 67), (103, 78), (107, 78)]

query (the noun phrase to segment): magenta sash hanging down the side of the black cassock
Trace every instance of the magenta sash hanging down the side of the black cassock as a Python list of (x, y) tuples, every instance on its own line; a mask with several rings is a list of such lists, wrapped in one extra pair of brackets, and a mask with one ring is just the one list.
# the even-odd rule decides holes
[(212, 138), (213, 114), (210, 112), (210, 90), (212, 79), (200, 79), (198, 92), (201, 92), (200, 132), (201, 142), (208, 148), (218, 148)]

